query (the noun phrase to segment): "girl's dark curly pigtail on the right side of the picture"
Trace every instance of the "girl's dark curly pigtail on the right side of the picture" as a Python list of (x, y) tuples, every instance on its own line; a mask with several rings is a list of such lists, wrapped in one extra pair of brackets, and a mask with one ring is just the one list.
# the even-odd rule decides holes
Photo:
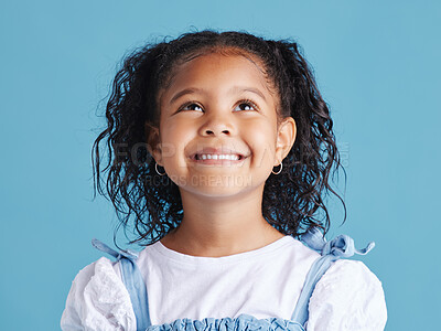
[[(281, 117), (294, 118), (298, 132), (283, 160), (284, 171), (279, 175), (271, 174), (268, 180), (263, 193), (269, 197), (265, 202), (267, 214), (268, 217), (275, 214), (272, 223), (289, 234), (299, 235), (310, 227), (320, 227), (326, 233), (330, 215), (324, 196), (327, 193), (337, 196), (346, 215), (344, 201), (330, 184), (331, 173), (341, 167), (330, 109), (297, 43), (271, 41), (269, 44), (275, 54), (273, 71), (278, 76)], [(266, 194), (267, 191), (280, 194), (270, 199), (273, 195)], [(287, 210), (287, 206), (290, 207)]]

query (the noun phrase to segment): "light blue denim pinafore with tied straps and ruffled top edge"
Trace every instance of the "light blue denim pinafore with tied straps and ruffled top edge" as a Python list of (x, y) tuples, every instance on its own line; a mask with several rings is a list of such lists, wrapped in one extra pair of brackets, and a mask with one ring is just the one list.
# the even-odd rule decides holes
[(369, 243), (366, 248), (358, 250), (355, 249), (354, 241), (351, 237), (340, 235), (326, 242), (319, 228), (309, 229), (301, 236), (300, 241), (320, 253), (321, 256), (313, 263), (306, 275), (290, 320), (282, 318), (257, 319), (250, 314), (241, 313), (237, 318), (205, 318), (202, 320), (184, 318), (161, 325), (152, 325), (150, 321), (147, 287), (137, 265), (138, 254), (131, 250), (116, 252), (98, 239), (93, 239), (92, 244), (120, 261), (122, 281), (130, 295), (137, 318), (137, 331), (304, 331), (311, 295), (318, 281), (333, 261), (342, 257), (351, 257), (354, 254), (365, 255), (374, 248), (375, 244)]

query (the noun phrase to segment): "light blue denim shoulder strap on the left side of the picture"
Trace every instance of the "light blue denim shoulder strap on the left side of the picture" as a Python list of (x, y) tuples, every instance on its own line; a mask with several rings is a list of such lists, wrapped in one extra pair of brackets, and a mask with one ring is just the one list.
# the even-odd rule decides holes
[(93, 239), (92, 245), (114, 256), (119, 261), (122, 282), (130, 295), (130, 301), (137, 318), (137, 330), (146, 331), (151, 325), (151, 321), (146, 282), (137, 265), (138, 254), (132, 250), (116, 252), (98, 239)]

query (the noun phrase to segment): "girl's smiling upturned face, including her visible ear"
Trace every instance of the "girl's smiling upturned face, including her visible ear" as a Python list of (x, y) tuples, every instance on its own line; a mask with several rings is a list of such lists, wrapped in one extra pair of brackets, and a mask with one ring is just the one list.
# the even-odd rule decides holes
[(181, 194), (225, 197), (263, 190), (290, 151), (294, 120), (278, 127), (279, 98), (260, 62), (250, 58), (195, 57), (179, 66), (160, 95), (159, 134), (149, 141), (159, 139), (152, 154)]

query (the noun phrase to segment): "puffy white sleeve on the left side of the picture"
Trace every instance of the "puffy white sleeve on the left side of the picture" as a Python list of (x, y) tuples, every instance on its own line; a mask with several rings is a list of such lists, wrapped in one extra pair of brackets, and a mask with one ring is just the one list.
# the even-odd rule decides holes
[(61, 327), (63, 331), (136, 330), (129, 292), (108, 258), (99, 258), (75, 277)]

